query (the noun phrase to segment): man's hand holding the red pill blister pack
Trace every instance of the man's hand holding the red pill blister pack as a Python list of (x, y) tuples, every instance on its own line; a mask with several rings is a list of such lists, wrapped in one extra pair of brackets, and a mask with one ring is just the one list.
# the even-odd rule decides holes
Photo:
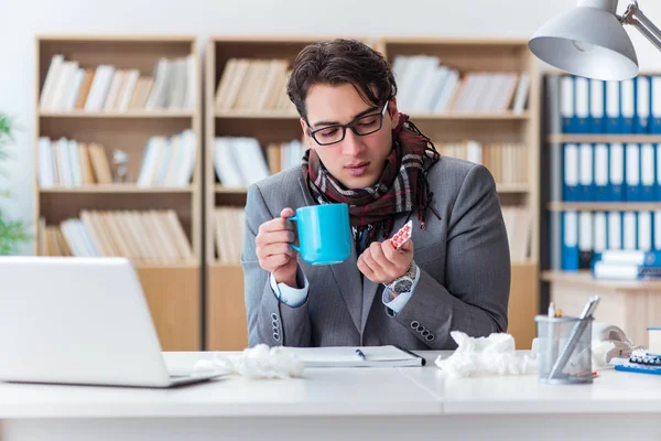
[(394, 249), (390, 240), (373, 241), (358, 258), (358, 269), (375, 283), (390, 283), (409, 270), (413, 260), (413, 241)]

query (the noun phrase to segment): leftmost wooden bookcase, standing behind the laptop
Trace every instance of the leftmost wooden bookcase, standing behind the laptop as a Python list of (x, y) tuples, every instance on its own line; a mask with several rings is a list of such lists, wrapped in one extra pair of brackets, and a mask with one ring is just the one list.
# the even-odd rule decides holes
[[(35, 254), (40, 254), (44, 237), (40, 218), (46, 226), (56, 226), (69, 218), (79, 218), (82, 211), (173, 211), (183, 227), (192, 256), (185, 259), (140, 259), (134, 265), (150, 306), (161, 346), (164, 351), (198, 351), (202, 348), (201, 265), (202, 244), (202, 87), (201, 58), (194, 36), (138, 35), (37, 35), (35, 75), (35, 181), (34, 234)], [(186, 98), (186, 109), (53, 110), (40, 106), (46, 74), (54, 55), (78, 63), (83, 69), (99, 65), (117, 69), (138, 71), (140, 77), (154, 76), (161, 58), (183, 60), (193, 78)], [(96, 72), (96, 71), (95, 71)], [(139, 186), (145, 143), (151, 137), (171, 137), (192, 131), (197, 144), (191, 183), (182, 186)], [(122, 183), (78, 186), (40, 183), (40, 137), (67, 138), (84, 143), (99, 143), (108, 161), (115, 149), (128, 154), (128, 180)], [(155, 220), (154, 220), (155, 222)], [(126, 234), (127, 232), (121, 232)], [(151, 233), (151, 232), (150, 232)], [(107, 240), (108, 238), (106, 238)], [(127, 238), (128, 240), (128, 238)], [(131, 246), (138, 246), (132, 244)], [(102, 282), (102, 281), (100, 281)]]

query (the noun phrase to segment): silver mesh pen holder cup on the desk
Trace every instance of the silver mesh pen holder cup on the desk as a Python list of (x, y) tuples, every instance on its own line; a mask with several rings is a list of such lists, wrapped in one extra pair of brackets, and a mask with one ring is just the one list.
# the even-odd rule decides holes
[(592, 376), (593, 318), (538, 315), (539, 383), (585, 384)]

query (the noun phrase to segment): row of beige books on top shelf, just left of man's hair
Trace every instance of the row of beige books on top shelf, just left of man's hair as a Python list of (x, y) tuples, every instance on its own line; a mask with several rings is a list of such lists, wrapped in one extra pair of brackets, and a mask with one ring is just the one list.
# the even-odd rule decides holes
[(295, 112), (286, 96), (289, 61), (279, 58), (229, 58), (216, 88), (216, 111)]

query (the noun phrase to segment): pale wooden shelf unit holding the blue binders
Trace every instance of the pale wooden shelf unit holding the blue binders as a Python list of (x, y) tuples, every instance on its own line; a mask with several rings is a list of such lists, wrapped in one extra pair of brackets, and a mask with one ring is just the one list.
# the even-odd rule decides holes
[[(562, 308), (565, 314), (578, 315), (592, 295), (602, 298), (596, 312), (596, 320), (615, 324), (621, 327), (627, 336), (635, 343), (647, 345), (647, 326), (655, 325), (661, 320), (661, 282), (658, 280), (613, 280), (594, 278), (590, 270), (592, 254), (595, 251), (595, 217), (590, 218), (592, 230), (588, 249), (581, 249), (577, 270), (563, 269), (563, 220), (565, 212), (576, 212), (578, 215), (600, 212), (657, 212), (661, 209), (661, 201), (563, 201), (563, 169), (564, 143), (659, 143), (661, 136), (658, 133), (636, 133), (629, 130), (626, 133), (571, 133), (563, 132), (561, 105), (562, 93), (559, 77), (571, 75), (554, 69), (544, 75), (544, 103), (545, 123), (542, 132), (544, 140), (543, 162), (549, 164), (544, 170), (541, 182), (542, 189), (542, 268), (541, 281), (543, 292), (555, 308)], [(640, 72), (639, 77), (659, 75), (659, 72)], [(590, 85), (592, 87), (592, 85)], [(636, 90), (636, 89), (635, 89)], [(573, 90), (575, 95), (575, 88)], [(635, 92), (636, 94), (636, 92)], [(622, 99), (621, 95), (618, 99)], [(606, 96), (604, 96), (606, 100)], [(635, 107), (636, 114), (638, 107)], [(607, 119), (606, 116), (604, 116)], [(610, 169), (610, 162), (608, 162)], [(596, 168), (595, 168), (596, 170)], [(593, 179), (594, 179), (593, 174)], [(581, 220), (577, 220), (581, 222)], [(652, 220), (653, 225), (653, 220)], [(577, 243), (581, 244), (579, 228)], [(638, 228), (638, 227), (636, 227)], [(610, 232), (607, 230), (607, 234)], [(624, 243), (624, 235), (622, 235)], [(609, 237), (607, 240), (610, 240)], [(627, 248), (622, 245), (624, 248)], [(636, 246), (631, 247), (635, 248)], [(652, 245), (653, 247), (653, 245)]]

